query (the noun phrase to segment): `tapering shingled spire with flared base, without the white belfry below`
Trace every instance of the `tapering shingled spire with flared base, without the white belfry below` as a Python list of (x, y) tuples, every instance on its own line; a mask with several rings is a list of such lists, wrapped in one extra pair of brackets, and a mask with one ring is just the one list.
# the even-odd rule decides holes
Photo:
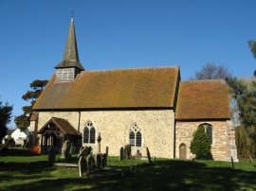
[(63, 61), (61, 61), (58, 65), (55, 66), (55, 68), (58, 69), (74, 67), (79, 70), (84, 70), (81, 62), (79, 61), (74, 18), (72, 16), (64, 49), (64, 58)]

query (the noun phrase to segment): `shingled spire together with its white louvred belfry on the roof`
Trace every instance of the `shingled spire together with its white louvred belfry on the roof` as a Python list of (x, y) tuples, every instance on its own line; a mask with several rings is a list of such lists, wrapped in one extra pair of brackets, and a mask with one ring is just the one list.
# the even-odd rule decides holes
[(78, 46), (76, 40), (76, 32), (74, 25), (74, 18), (71, 18), (66, 45), (64, 49), (63, 61), (55, 66), (57, 69), (57, 80), (74, 80), (76, 75), (84, 70), (79, 61)]

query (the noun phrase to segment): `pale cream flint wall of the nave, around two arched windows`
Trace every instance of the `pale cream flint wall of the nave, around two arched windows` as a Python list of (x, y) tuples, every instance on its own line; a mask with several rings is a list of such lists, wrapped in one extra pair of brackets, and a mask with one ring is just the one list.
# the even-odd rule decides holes
[[(109, 148), (110, 156), (119, 156), (119, 149), (129, 144), (129, 131), (136, 123), (142, 133), (141, 148), (132, 148), (132, 154), (149, 148), (152, 157), (174, 158), (174, 112), (172, 110), (154, 111), (91, 111), (81, 112), (79, 126), (79, 112), (40, 112), (38, 130), (40, 130), (51, 117), (67, 119), (76, 129), (82, 132), (88, 121), (96, 129), (96, 138), (101, 132), (101, 148)], [(95, 144), (82, 144), (91, 146), (97, 153)], [(142, 153), (144, 155), (145, 153)], [(146, 155), (145, 155), (146, 156)]]

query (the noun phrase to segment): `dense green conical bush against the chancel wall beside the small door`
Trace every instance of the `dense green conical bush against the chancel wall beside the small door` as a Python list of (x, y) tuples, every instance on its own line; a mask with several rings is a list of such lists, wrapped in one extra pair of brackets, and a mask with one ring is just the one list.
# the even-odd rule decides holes
[(212, 159), (210, 152), (210, 139), (204, 129), (198, 129), (193, 133), (191, 151), (196, 159)]

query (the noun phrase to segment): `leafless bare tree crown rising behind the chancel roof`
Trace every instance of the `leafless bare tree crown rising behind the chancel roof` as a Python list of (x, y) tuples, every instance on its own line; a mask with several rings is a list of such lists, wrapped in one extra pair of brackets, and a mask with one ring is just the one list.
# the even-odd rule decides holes
[(230, 78), (232, 73), (225, 65), (216, 65), (215, 63), (206, 63), (202, 69), (195, 72), (192, 79), (226, 79)]

